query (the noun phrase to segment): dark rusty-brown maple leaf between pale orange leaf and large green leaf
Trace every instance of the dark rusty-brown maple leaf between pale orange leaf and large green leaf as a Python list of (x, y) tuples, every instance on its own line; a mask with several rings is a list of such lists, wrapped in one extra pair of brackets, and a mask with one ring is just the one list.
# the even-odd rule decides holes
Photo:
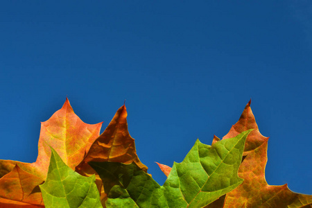
[(81, 175), (96, 174), (96, 184), (101, 193), (102, 205), (105, 206), (107, 195), (103, 189), (103, 182), (98, 173), (89, 166), (88, 162), (122, 162), (131, 164), (135, 162), (139, 168), (147, 172), (148, 168), (141, 163), (135, 149), (135, 139), (128, 132), (127, 110), (125, 105), (117, 110), (110, 124), (104, 132), (94, 141), (87, 155), (76, 167)]

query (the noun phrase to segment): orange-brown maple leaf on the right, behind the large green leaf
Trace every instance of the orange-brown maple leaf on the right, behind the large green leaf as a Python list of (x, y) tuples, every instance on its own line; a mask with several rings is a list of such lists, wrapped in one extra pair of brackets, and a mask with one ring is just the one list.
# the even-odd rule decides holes
[(304, 207), (312, 205), (312, 196), (294, 193), (287, 184), (271, 186), (266, 182), (268, 137), (259, 132), (250, 102), (243, 110), (239, 121), (232, 126), (223, 139), (234, 137), (241, 132), (254, 129), (248, 135), (239, 177), (244, 182), (227, 193), (224, 207)]

